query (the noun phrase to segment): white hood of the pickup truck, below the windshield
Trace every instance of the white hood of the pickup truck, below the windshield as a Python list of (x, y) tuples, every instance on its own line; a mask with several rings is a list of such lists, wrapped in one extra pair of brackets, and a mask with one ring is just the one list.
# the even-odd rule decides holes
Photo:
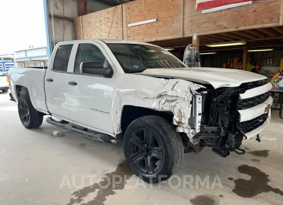
[(153, 68), (147, 69), (139, 75), (176, 78), (200, 84), (210, 84), (215, 89), (219, 87), (238, 87), (242, 83), (264, 80), (267, 77), (256, 73), (225, 69), (225, 68)]

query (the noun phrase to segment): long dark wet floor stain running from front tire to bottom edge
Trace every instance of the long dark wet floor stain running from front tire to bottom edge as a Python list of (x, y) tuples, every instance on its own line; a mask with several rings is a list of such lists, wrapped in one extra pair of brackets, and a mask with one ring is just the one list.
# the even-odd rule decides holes
[[(133, 174), (134, 173), (130, 170), (130, 167), (128, 167), (126, 161), (123, 161), (118, 165), (115, 171), (105, 174), (106, 176), (102, 180), (100, 180), (99, 183), (94, 183), (92, 186), (84, 187), (81, 190), (75, 191), (72, 194), (75, 196), (75, 198), (70, 198), (70, 201), (69, 203), (67, 203), (67, 205), (73, 205), (73, 204), (104, 205), (104, 202), (106, 201), (106, 197), (110, 195), (114, 195), (116, 193), (115, 190), (124, 189), (125, 185), (127, 184), (126, 180), (128, 180), (131, 176), (133, 176)], [(119, 184), (114, 183), (115, 184), (114, 185), (113, 179), (117, 181), (120, 180), (120, 178), (118, 177), (113, 178), (113, 176), (117, 176), (117, 175), (122, 177), (122, 181)], [(101, 188), (101, 187), (106, 187), (106, 188)], [(84, 201), (83, 199), (84, 197), (86, 197), (89, 193), (95, 192), (96, 190), (98, 190), (96, 197), (94, 197), (91, 201), (88, 201), (86, 203), (81, 203)]]

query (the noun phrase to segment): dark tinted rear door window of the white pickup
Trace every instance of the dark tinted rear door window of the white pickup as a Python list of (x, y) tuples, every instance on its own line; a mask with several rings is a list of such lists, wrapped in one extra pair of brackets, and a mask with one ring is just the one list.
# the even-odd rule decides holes
[(73, 48), (73, 44), (59, 46), (54, 58), (54, 63), (52, 68), (54, 71), (67, 72), (72, 48)]

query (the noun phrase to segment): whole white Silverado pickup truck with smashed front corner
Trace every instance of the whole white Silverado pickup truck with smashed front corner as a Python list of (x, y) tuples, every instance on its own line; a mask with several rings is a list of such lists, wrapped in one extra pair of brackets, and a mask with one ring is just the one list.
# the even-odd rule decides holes
[[(188, 68), (168, 51), (124, 40), (58, 43), (47, 70), (11, 68), (10, 97), (26, 128), (46, 121), (75, 133), (123, 139), (125, 158), (149, 182), (166, 180), (184, 153), (204, 146), (222, 157), (244, 154), (270, 121), (265, 76)], [(166, 176), (158, 179), (159, 176)]]

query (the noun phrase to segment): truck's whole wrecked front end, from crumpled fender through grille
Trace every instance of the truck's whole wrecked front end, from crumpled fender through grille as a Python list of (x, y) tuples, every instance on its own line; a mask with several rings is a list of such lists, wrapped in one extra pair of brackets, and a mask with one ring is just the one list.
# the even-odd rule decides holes
[[(120, 122), (122, 110), (119, 108), (123, 109), (124, 105), (171, 113), (176, 131), (183, 140), (185, 152), (199, 153), (203, 147), (208, 146), (222, 157), (228, 156), (231, 151), (239, 155), (244, 154), (245, 150), (240, 148), (242, 140), (247, 139), (247, 136), (250, 139), (257, 135), (258, 130), (257, 133), (254, 130), (263, 125), (261, 131), (269, 122), (269, 110), (250, 120), (247, 117), (240, 119), (247, 116), (254, 106), (263, 107), (264, 103), (270, 101), (267, 92), (269, 84), (265, 82), (242, 83), (236, 87), (224, 84), (214, 88), (184, 79), (154, 77), (148, 78), (155, 79), (154, 86), (148, 82), (142, 88), (115, 91), (115, 99), (120, 99), (120, 102), (115, 100), (114, 104), (113, 114), (116, 122)], [(153, 87), (159, 89), (155, 90)], [(253, 88), (264, 92), (258, 96), (240, 99), (241, 94)], [(241, 116), (241, 111), (245, 111), (245, 115)], [(117, 133), (121, 132), (118, 124)]]

